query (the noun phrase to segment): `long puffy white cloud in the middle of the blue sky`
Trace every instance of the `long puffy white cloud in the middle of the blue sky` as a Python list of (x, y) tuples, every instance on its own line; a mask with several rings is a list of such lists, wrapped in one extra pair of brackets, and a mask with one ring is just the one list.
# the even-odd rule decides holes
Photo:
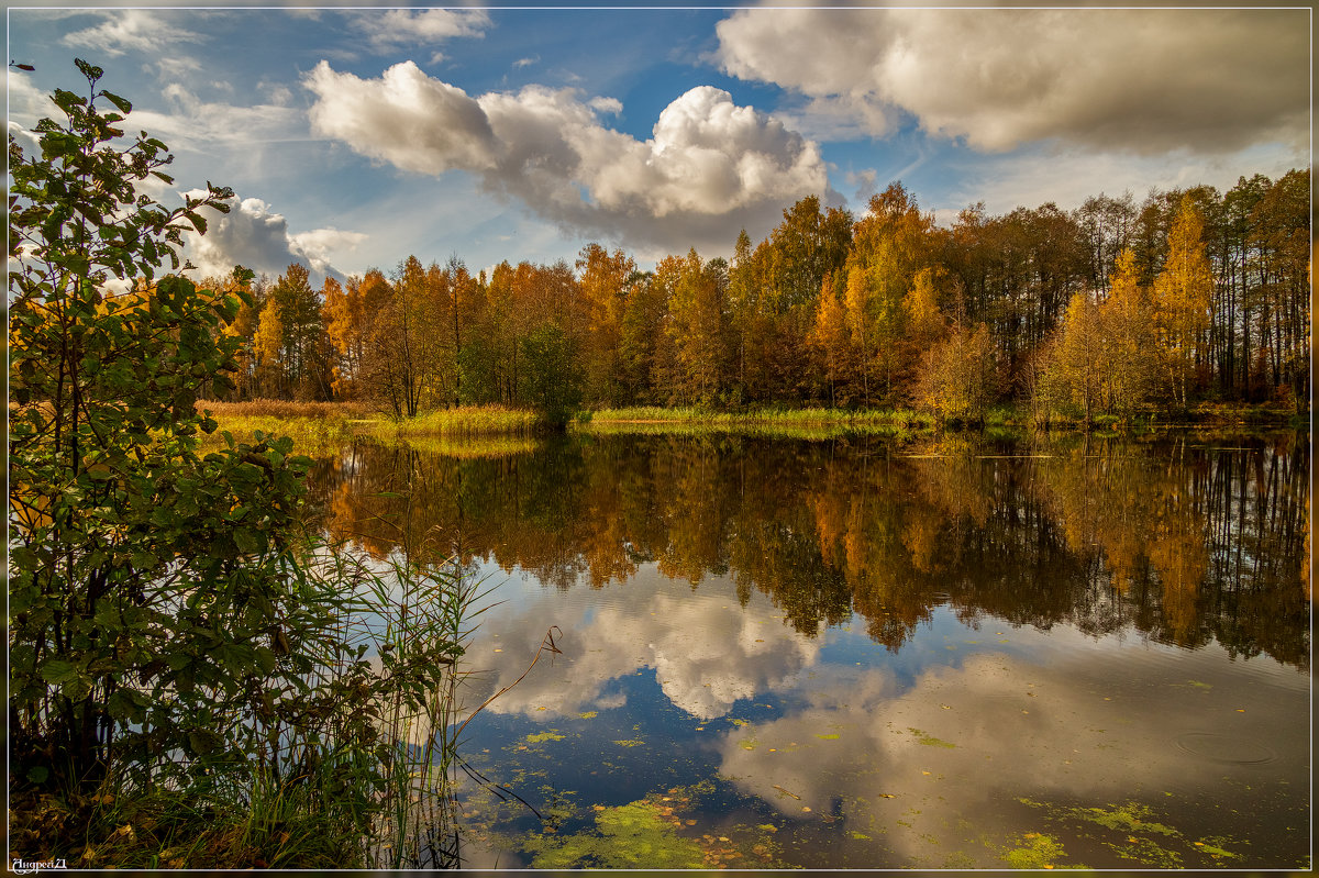
[(768, 228), (785, 204), (831, 194), (819, 146), (710, 86), (669, 104), (652, 137), (605, 128), (611, 99), (528, 86), (474, 98), (404, 62), (379, 79), (322, 61), (314, 133), (406, 171), (476, 175), (562, 228), (632, 245), (727, 247), (737, 228)]

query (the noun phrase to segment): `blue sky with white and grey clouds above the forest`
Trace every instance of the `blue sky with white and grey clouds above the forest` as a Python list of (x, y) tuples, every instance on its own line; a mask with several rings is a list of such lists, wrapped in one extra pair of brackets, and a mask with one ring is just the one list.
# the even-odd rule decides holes
[(731, 256), (798, 199), (857, 218), (900, 181), (951, 224), (1310, 163), (1308, 8), (8, 8), (8, 125), (46, 95), (133, 103), (190, 240), (314, 279), (409, 256), (644, 266)]

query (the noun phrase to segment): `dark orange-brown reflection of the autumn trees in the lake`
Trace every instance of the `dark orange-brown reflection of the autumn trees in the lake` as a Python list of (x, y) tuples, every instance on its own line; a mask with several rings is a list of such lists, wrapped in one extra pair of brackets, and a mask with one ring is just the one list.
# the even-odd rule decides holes
[(458, 543), (561, 591), (652, 567), (698, 592), (727, 580), (805, 638), (856, 613), (896, 653), (947, 604), (972, 625), (1217, 641), (1306, 668), (1308, 472), (1294, 434), (1231, 447), (594, 436), (463, 456), (356, 444), (311, 481), (326, 526), (376, 554)]

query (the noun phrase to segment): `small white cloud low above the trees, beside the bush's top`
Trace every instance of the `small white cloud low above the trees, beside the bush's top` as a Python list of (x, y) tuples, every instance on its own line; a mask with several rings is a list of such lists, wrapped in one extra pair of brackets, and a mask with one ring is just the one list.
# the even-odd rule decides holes
[(228, 214), (207, 216), (204, 236), (186, 236), (185, 253), (199, 277), (226, 277), (235, 265), (274, 277), (299, 262), (311, 269), (313, 282), (319, 283), (326, 277), (342, 278), (331, 260), (351, 252), (365, 239), (361, 232), (336, 228), (290, 232), (284, 215), (276, 214), (260, 198), (235, 196)]

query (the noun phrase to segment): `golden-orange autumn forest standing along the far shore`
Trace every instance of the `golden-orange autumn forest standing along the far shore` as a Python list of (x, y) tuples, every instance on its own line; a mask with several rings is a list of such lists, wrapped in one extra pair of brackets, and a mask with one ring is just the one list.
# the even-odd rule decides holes
[(359, 399), (396, 415), (471, 403), (919, 406), (975, 419), (1130, 414), (1310, 392), (1310, 171), (1099, 195), (951, 225), (901, 183), (860, 218), (816, 196), (732, 260), (642, 272), (590, 244), (574, 265), (472, 274), (409, 256), (313, 289), (262, 278), (226, 332), (233, 398)]

